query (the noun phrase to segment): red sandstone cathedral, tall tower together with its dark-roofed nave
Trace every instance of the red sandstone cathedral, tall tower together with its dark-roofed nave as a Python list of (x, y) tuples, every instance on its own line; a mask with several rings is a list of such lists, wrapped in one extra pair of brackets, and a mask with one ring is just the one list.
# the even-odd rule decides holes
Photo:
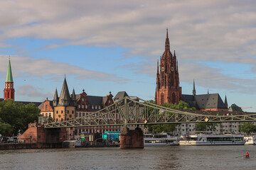
[(157, 61), (155, 101), (157, 104), (162, 104), (178, 103), (181, 100), (188, 103), (191, 108), (195, 107), (201, 111), (228, 111), (226, 96), (225, 103), (223, 103), (219, 94), (196, 95), (195, 81), (193, 82), (192, 95), (181, 94), (178, 60), (175, 51), (174, 55), (170, 51), (168, 30), (166, 30), (164, 54), (160, 57), (160, 64)]

